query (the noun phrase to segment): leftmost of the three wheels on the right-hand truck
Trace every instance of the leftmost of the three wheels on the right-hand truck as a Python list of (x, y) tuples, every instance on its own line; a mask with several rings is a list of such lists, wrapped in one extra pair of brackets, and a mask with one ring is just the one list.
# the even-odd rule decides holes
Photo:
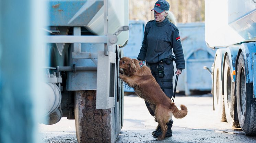
[(214, 110), (218, 113), (218, 120), (226, 121), (224, 99), (221, 93), (221, 64), (222, 64), (222, 55), (217, 54), (214, 61), (213, 69), (213, 103)]

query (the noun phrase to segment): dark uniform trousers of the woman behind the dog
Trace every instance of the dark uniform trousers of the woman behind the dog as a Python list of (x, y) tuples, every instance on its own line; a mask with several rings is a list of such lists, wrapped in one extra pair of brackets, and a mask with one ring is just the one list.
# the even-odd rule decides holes
[[(150, 70), (152, 75), (155, 77), (156, 82), (160, 85), (161, 89), (164, 91), (165, 95), (169, 98), (172, 98), (173, 96), (173, 76), (174, 76), (174, 67), (173, 67), (173, 62), (171, 62), (170, 65), (167, 65), (164, 62), (164, 77), (159, 77), (158, 74), (158, 63), (154, 64), (148, 64), (150, 66)], [(158, 95), (155, 95), (158, 96)], [(149, 110), (149, 113), (152, 116), (155, 116), (154, 113), (154, 105), (150, 105), (147, 101), (145, 101), (146, 106)]]

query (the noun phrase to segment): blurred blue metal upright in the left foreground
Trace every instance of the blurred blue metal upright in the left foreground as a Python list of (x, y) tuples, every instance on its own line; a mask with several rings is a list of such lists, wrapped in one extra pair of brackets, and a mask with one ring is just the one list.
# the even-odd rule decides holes
[(0, 9), (0, 142), (36, 143), (45, 3), (1, 0)]

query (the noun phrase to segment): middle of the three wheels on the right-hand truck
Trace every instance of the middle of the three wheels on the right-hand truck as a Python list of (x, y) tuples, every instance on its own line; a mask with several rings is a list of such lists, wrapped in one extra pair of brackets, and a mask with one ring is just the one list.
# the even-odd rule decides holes
[(224, 106), (225, 106), (225, 115), (226, 120), (231, 127), (238, 127), (239, 122), (237, 119), (236, 111), (236, 99), (234, 95), (235, 82), (232, 82), (232, 70), (230, 68), (229, 55), (226, 55), (224, 62)]

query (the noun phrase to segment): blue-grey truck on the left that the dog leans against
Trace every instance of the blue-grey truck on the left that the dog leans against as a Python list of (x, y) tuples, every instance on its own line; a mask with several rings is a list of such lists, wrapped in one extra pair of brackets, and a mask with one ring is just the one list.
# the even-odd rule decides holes
[(44, 124), (75, 120), (77, 140), (115, 142), (123, 126), (120, 49), (129, 38), (128, 0), (48, 0), (42, 28)]

